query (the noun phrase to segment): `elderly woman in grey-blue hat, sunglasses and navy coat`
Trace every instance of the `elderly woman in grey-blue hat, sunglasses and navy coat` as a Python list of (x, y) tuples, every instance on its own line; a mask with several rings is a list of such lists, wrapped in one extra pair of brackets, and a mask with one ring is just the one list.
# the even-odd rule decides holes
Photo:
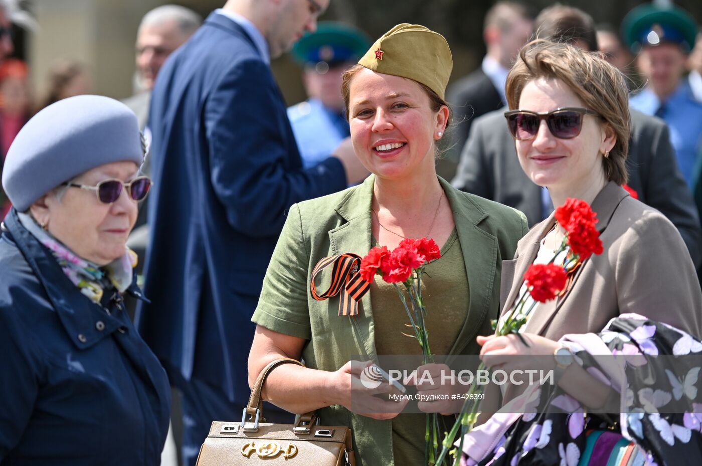
[(168, 430), (163, 368), (129, 321), (126, 239), (150, 187), (136, 116), (97, 95), (22, 128), (3, 187), (0, 465), (155, 465)]

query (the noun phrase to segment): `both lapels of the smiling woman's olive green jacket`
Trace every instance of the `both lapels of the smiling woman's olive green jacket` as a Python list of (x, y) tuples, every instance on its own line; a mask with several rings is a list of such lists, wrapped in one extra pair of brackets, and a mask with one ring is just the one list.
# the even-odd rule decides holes
[[(498, 241), (493, 234), (480, 227), (480, 223), (489, 214), (473, 201), (469, 194), (458, 191), (441, 177), (439, 183), (446, 193), (453, 211), (458, 239), (463, 250), (466, 275), (469, 288), (469, 314), (465, 319), (458, 338), (451, 348), (451, 354), (461, 352), (465, 344), (477, 336), (486, 315), (489, 312), (495, 268), (498, 254)], [(336, 205), (335, 211), (345, 222), (329, 232), (331, 249), (334, 255), (355, 253), (366, 255), (371, 249), (371, 201), (375, 175), (369, 176), (355, 189), (349, 189)], [(376, 345), (373, 332), (373, 312), (371, 295), (362, 298), (362, 311), (358, 317), (349, 317), (360, 345), (366, 356), (375, 359)], [(431, 313), (431, 309), (429, 310)]]

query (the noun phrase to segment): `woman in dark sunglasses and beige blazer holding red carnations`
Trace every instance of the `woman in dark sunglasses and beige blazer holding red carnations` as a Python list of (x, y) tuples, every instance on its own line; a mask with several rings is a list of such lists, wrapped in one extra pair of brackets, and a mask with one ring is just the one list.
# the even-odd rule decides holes
[[(493, 416), (468, 434), (464, 462), (623, 464), (607, 462), (609, 453), (600, 449), (595, 454), (592, 448), (592, 458), (604, 462), (578, 462), (588, 454), (588, 429), (604, 425), (611, 432), (605, 435), (612, 440), (609, 451), (622, 439), (621, 432), (627, 432), (623, 443), (633, 441), (637, 451), (658, 464), (698, 464), (702, 416), (697, 416), (702, 404), (690, 413), (685, 410), (700, 401), (691, 392), (689, 398), (673, 394), (682, 392), (683, 383), (694, 385), (699, 368), (691, 368), (685, 382), (687, 372), (675, 373), (673, 366), (672, 372), (664, 371), (651, 356), (702, 350), (702, 293), (677, 229), (622, 187), (630, 126), (623, 76), (597, 55), (567, 44), (534, 41), (524, 46), (510, 70), (506, 96), (512, 110), (505, 117), (524, 172), (548, 188), (556, 207), (569, 198), (587, 201), (597, 215), (603, 251), (569, 269), (564, 292), (536, 303), (519, 335), (478, 337), (486, 366), (508, 372), (555, 371), (557, 391), (550, 399), (544, 390), (524, 394), (519, 402), (528, 400), (531, 409), (539, 406), (536, 415), (510, 420)], [(515, 260), (503, 262), (503, 316), (523, 293), (529, 265), (549, 262), (564, 235), (552, 214), (519, 241)], [(562, 265), (564, 257), (561, 253), (554, 263)], [(596, 361), (592, 354), (626, 354), (621, 368), (628, 385), (613, 388), (623, 386), (621, 373), (611, 366), (614, 359)], [(680, 360), (677, 370), (684, 364)], [(512, 385), (503, 387), (503, 394), (514, 402), (517, 393), (536, 388)], [(689, 403), (671, 407), (676, 401)], [(505, 411), (522, 409), (529, 408)], [(597, 415), (602, 412), (615, 415)], [(504, 436), (499, 447), (480, 441), (485, 432), (495, 439)], [(671, 437), (678, 434), (676, 443)], [(690, 462), (682, 461), (681, 454), (689, 455)]]

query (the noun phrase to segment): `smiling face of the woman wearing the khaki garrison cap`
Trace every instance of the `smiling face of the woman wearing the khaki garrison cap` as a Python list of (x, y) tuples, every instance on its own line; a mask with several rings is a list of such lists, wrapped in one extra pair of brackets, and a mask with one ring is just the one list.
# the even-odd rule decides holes
[(435, 140), (449, 116), (430, 108), (429, 96), (411, 79), (360, 69), (349, 91), (353, 147), (379, 178), (399, 179), (434, 170)]

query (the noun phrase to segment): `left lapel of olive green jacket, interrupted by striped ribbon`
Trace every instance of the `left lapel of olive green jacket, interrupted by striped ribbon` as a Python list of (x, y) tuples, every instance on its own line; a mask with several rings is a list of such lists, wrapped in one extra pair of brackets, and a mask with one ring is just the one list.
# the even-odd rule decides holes
[[(373, 199), (373, 183), (375, 176), (371, 175), (357, 189), (351, 189), (336, 206), (336, 212), (346, 222), (329, 232), (331, 251), (333, 255), (355, 253), (363, 257), (370, 251), (372, 243), (371, 229), (371, 200)], [(359, 314), (355, 317), (338, 317), (349, 319), (350, 325), (357, 338), (359, 348), (369, 359), (376, 360), (376, 340), (373, 333), (373, 310), (371, 309), (371, 293), (361, 300)]]

